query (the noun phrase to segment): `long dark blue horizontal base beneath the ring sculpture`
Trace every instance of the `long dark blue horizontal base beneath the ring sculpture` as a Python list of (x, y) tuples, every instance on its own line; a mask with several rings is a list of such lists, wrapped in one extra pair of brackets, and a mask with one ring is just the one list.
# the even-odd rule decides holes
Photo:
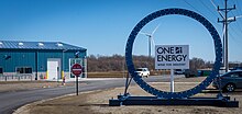
[(187, 99), (161, 99), (156, 96), (129, 96), (118, 95), (117, 100), (109, 100), (109, 106), (121, 105), (200, 105), (219, 107), (239, 107), (239, 101), (230, 101), (223, 98), (187, 98)]

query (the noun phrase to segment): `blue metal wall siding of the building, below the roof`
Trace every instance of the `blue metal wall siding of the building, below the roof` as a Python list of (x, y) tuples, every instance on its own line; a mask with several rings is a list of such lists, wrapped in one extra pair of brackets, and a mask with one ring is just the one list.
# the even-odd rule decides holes
[[(37, 53), (38, 71), (47, 70), (48, 58), (59, 58), (62, 70), (64, 58), (64, 71), (69, 71), (69, 58), (75, 58), (76, 52), (77, 50), (0, 49), (0, 67), (3, 68), (3, 72), (15, 72), (16, 67), (31, 67), (32, 71), (35, 72), (35, 54)], [(11, 58), (4, 59), (6, 56), (11, 56)], [(79, 58), (84, 57), (86, 57), (86, 50), (79, 53)]]

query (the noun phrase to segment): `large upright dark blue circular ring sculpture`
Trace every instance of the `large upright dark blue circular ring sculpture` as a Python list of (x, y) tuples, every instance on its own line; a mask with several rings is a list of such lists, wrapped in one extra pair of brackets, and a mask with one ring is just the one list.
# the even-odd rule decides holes
[[(138, 76), (138, 73), (135, 72), (135, 67), (134, 67), (133, 60), (132, 60), (133, 43), (134, 43), (134, 39), (135, 39), (138, 33), (142, 30), (142, 27), (156, 18), (169, 15), (169, 14), (185, 15), (185, 16), (189, 16), (189, 18), (200, 22), (209, 31), (210, 35), (212, 36), (213, 44), (215, 44), (215, 50), (216, 50), (216, 61), (215, 61), (211, 73), (198, 86), (194, 87), (190, 90), (180, 91), (180, 92), (166, 92), (166, 91), (161, 91), (161, 90), (157, 90), (157, 89), (151, 87), (140, 76)], [(222, 61), (222, 44), (221, 44), (220, 36), (219, 36), (218, 32), (216, 31), (215, 26), (207, 19), (205, 19), (202, 15), (200, 15), (194, 11), (189, 11), (189, 10), (185, 10), (185, 9), (177, 9), (177, 8), (164, 9), (164, 10), (160, 10), (160, 11), (156, 11), (154, 13), (148, 14), (143, 20), (141, 20), (135, 25), (135, 27), (132, 30), (132, 32), (128, 38), (128, 42), (127, 42), (125, 61), (127, 61), (128, 70), (129, 70), (130, 75), (133, 77), (133, 80), (146, 92), (148, 92), (157, 98), (161, 98), (161, 99), (162, 98), (163, 99), (189, 98), (189, 96), (193, 96), (193, 95), (201, 92), (202, 90), (205, 90), (212, 82), (212, 80), (217, 77), (219, 69), (220, 69), (220, 66), (221, 66), (221, 61)]]

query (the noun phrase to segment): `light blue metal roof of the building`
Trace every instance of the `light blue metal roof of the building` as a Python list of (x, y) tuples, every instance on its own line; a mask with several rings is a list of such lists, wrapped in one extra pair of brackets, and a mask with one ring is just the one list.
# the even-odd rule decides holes
[(62, 42), (22, 42), (22, 41), (0, 41), (0, 49), (87, 50), (86, 48), (65, 44)]

